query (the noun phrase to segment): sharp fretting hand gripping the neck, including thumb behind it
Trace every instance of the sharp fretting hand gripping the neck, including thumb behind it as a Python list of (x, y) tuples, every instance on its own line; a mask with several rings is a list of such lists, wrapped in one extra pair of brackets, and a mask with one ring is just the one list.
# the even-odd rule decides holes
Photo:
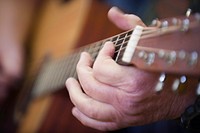
[[(145, 26), (139, 17), (124, 14), (115, 7), (108, 17), (124, 30)], [(105, 43), (95, 61), (83, 52), (77, 64), (78, 81), (74, 78), (66, 81), (74, 104), (72, 114), (85, 126), (112, 131), (175, 119), (194, 102), (196, 80), (188, 79), (191, 89), (175, 94), (171, 85), (176, 77), (169, 76), (164, 90), (157, 94), (154, 88), (158, 73), (118, 65), (112, 59), (113, 54), (112, 42)]]

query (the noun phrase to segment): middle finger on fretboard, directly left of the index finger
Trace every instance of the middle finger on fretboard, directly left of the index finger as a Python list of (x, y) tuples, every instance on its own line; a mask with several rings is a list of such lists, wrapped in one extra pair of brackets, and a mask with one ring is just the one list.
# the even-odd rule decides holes
[(77, 64), (79, 82), (84, 92), (100, 102), (110, 103), (110, 95), (114, 95), (112, 87), (98, 82), (92, 72), (91, 58), (87, 53), (82, 53)]

